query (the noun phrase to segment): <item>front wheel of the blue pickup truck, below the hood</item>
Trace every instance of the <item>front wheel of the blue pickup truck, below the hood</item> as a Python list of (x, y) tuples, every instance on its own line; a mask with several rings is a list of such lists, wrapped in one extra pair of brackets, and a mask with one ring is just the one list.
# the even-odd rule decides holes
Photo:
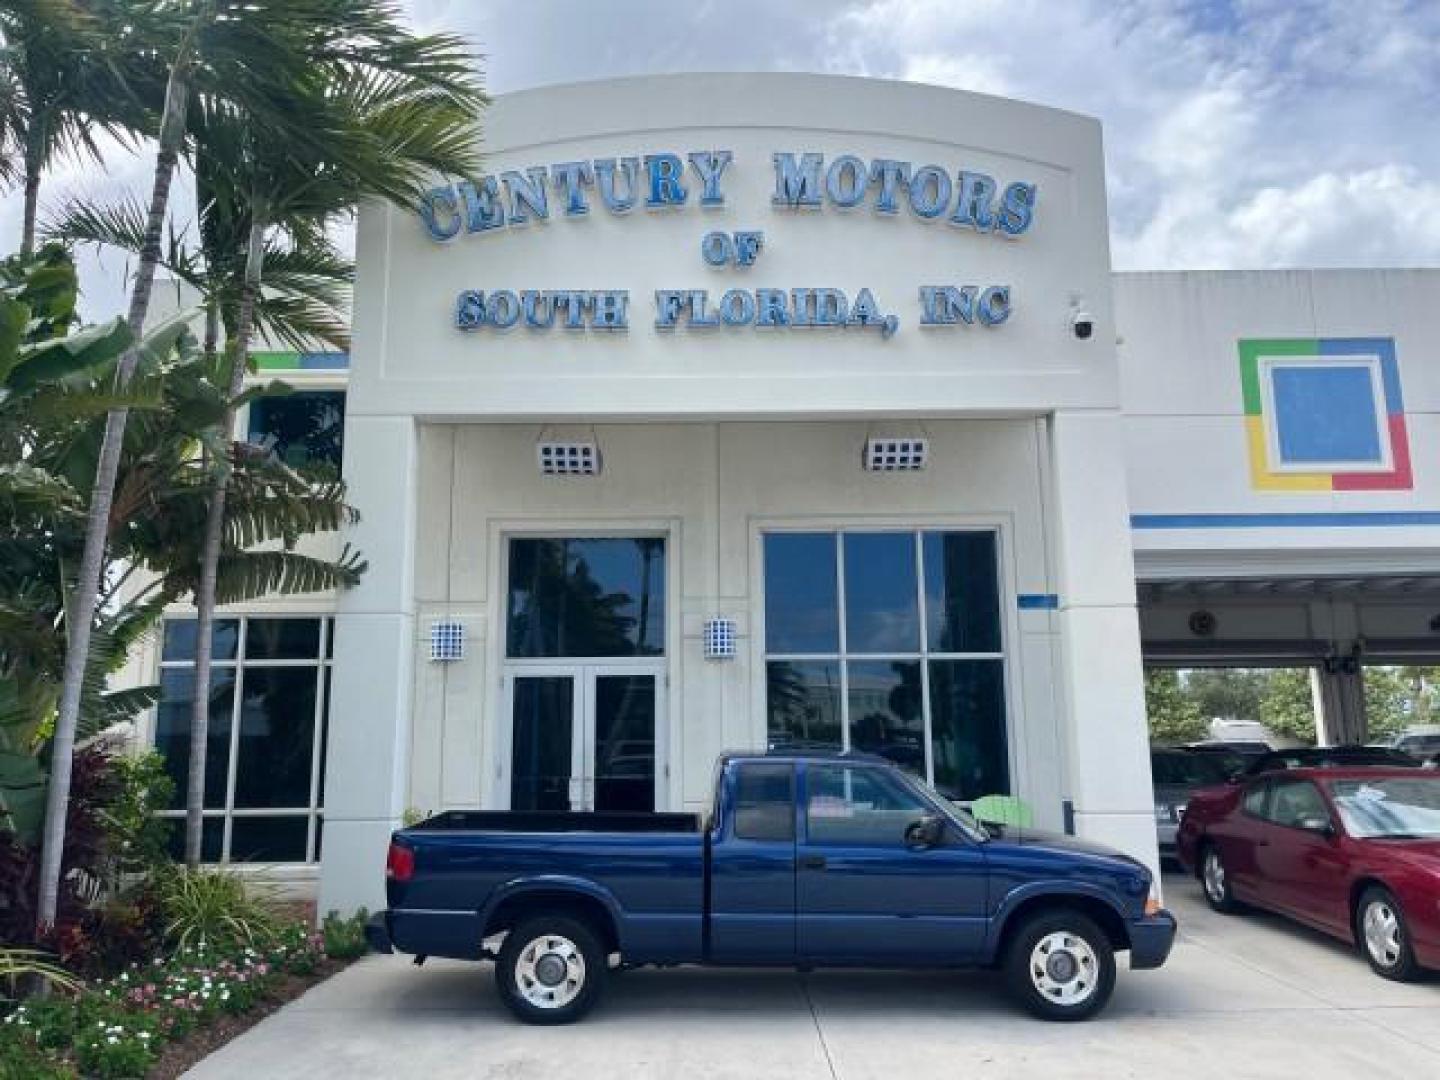
[(1115, 991), (1115, 950), (1094, 920), (1080, 912), (1041, 912), (1011, 939), (1005, 982), (1041, 1020), (1089, 1020)]

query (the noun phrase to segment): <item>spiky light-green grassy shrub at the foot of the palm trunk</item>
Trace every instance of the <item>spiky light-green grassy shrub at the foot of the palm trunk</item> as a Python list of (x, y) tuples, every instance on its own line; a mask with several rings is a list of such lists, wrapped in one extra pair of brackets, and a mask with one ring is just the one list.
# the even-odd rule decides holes
[(275, 916), (238, 874), (174, 867), (157, 873), (153, 888), (166, 936), (180, 949), (259, 946), (275, 939)]

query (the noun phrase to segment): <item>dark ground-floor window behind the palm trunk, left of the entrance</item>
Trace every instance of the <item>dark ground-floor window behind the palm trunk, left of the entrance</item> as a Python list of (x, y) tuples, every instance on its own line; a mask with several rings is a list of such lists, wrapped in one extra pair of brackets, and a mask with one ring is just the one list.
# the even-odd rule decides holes
[[(333, 622), (216, 619), (202, 857), (207, 863), (320, 858)], [(194, 700), (194, 619), (167, 619), (156, 749), (184, 818)], [(183, 848), (177, 825), (173, 844)]]

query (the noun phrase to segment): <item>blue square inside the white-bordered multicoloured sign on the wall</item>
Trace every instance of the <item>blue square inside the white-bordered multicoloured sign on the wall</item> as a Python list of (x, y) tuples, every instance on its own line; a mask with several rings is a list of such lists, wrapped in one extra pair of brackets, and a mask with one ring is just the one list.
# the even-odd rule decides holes
[(1270, 379), (1280, 464), (1378, 465), (1384, 461), (1369, 367), (1277, 364)]

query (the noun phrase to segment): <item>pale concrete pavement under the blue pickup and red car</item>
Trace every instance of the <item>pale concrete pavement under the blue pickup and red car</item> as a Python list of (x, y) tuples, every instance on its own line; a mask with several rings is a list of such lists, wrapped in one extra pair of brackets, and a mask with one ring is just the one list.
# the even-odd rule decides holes
[(1096, 1021), (1018, 1014), (986, 973), (638, 971), (567, 1028), (513, 1021), (490, 965), (372, 956), (193, 1077), (1440, 1076), (1440, 979), (1385, 982), (1284, 920), (1211, 913), (1166, 878), (1181, 936)]

